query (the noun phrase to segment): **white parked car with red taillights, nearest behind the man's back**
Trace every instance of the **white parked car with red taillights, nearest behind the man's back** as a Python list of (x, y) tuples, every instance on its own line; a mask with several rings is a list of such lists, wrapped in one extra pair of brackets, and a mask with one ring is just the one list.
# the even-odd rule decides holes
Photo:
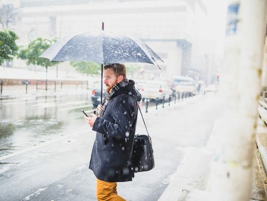
[(142, 88), (139, 89), (139, 92), (141, 93), (143, 99), (148, 98), (156, 100), (158, 98), (159, 101), (162, 101), (163, 98), (167, 101), (173, 94), (171, 87), (168, 86), (166, 81), (156, 80), (146, 81)]

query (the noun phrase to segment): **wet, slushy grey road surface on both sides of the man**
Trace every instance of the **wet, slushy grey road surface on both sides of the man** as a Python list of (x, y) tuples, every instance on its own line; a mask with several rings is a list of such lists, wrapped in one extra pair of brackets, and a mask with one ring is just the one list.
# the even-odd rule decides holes
[[(73, 91), (2, 100), (1, 201), (95, 200), (95, 177), (88, 169), (95, 133), (80, 112), (92, 109), (89, 97)], [(186, 152), (206, 146), (217, 111), (216, 99), (203, 96), (144, 113), (156, 167), (119, 183), (119, 194), (128, 201), (156, 201)], [(145, 133), (141, 118), (136, 131)]]

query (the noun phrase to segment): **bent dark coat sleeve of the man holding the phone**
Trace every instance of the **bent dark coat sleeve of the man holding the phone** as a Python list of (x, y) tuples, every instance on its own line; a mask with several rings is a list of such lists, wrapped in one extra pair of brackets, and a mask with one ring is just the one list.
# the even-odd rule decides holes
[(134, 118), (136, 117), (136, 104), (128, 95), (118, 97), (112, 108), (112, 117), (115, 122), (96, 118), (92, 130), (110, 137), (125, 139), (129, 137)]

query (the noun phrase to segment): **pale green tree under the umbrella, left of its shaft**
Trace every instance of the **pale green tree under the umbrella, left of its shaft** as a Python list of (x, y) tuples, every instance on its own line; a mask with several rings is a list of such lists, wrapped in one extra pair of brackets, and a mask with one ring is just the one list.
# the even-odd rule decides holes
[(93, 62), (86, 61), (71, 61), (70, 64), (75, 68), (76, 71), (87, 74), (87, 88), (88, 88), (88, 77), (89, 75), (99, 75), (100, 65)]

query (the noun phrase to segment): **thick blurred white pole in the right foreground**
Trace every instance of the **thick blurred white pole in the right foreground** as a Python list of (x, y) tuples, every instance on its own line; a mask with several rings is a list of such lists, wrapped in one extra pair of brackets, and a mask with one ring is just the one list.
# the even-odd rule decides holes
[(210, 191), (249, 201), (266, 31), (266, 0), (229, 0)]

